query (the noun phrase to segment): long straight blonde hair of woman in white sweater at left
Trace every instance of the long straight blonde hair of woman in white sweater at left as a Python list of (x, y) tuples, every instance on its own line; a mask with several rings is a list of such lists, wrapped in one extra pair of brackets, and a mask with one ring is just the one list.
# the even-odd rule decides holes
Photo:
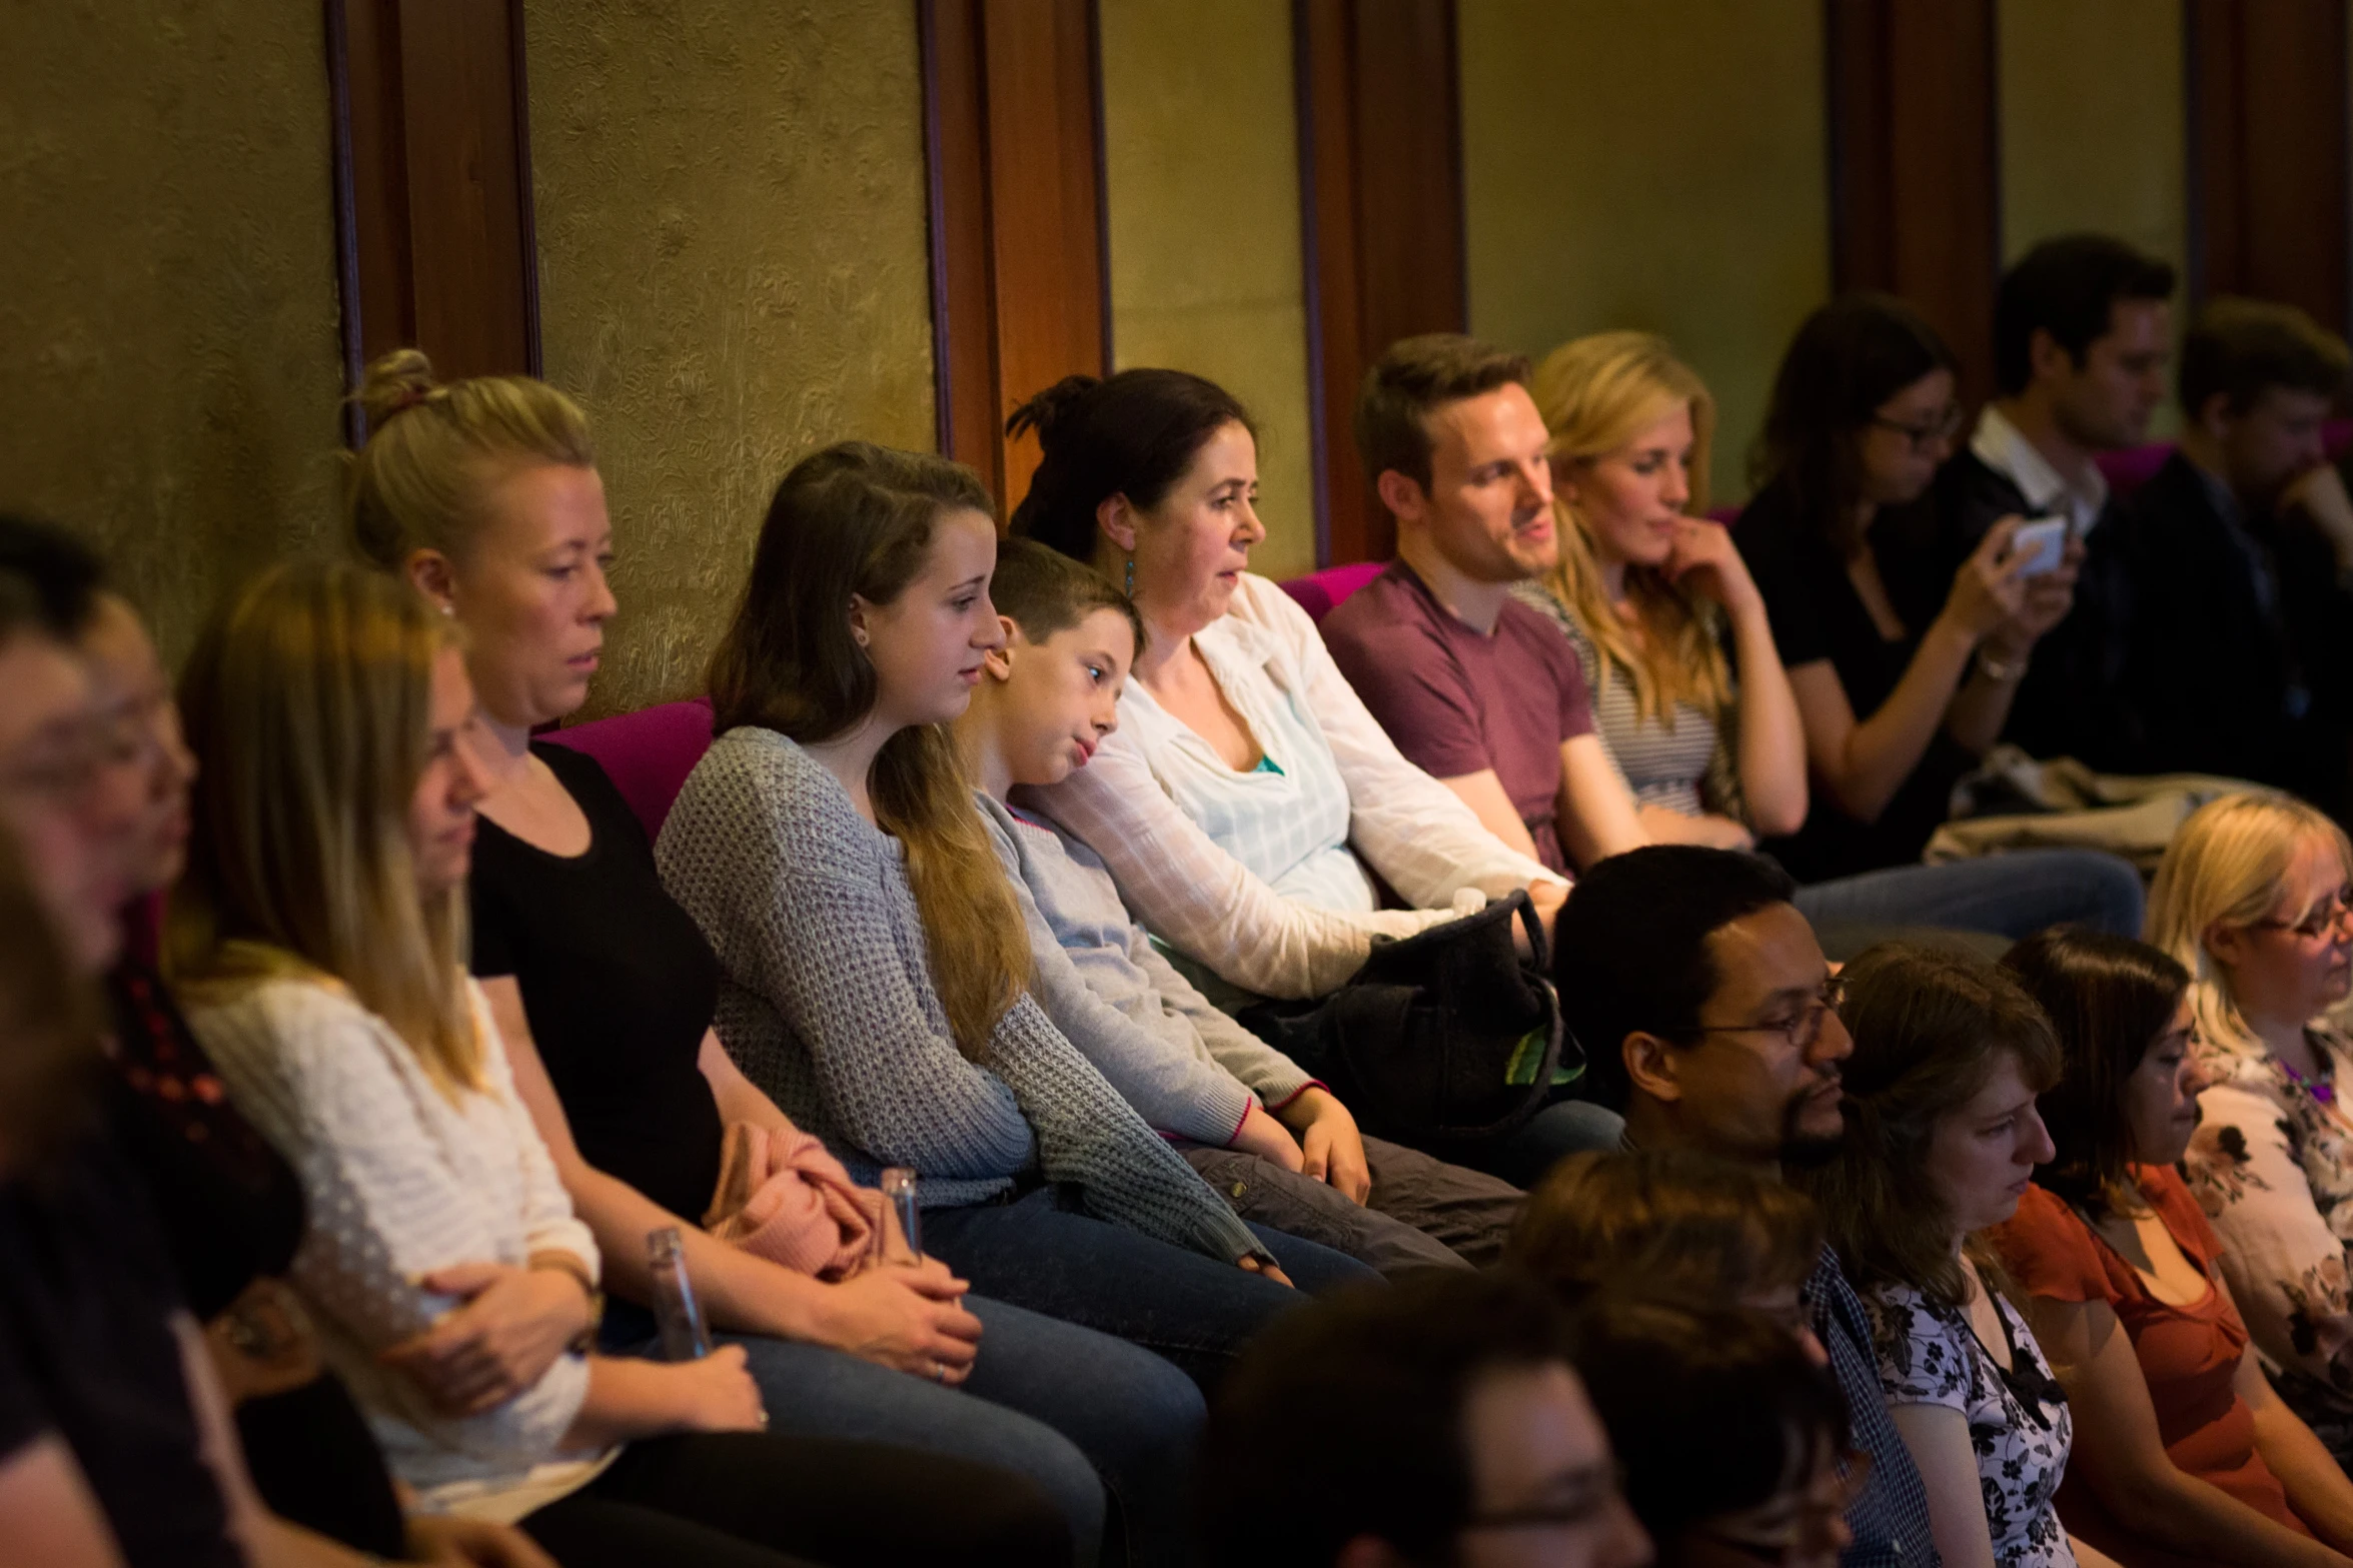
[(416, 896), (409, 799), (456, 625), (346, 562), (275, 567), (214, 616), (179, 705), (202, 762), (165, 964), (191, 994), (334, 978), (445, 1093), (480, 1088), (466, 898)]

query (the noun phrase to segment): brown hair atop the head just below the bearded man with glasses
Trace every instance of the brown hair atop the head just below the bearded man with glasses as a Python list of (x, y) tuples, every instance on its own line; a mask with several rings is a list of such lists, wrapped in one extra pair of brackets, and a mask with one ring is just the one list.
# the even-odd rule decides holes
[(1821, 1215), (1755, 1166), (1692, 1150), (1569, 1154), (1527, 1194), (1506, 1258), (1572, 1305), (1617, 1288), (1748, 1307), (1828, 1359), (1802, 1295)]

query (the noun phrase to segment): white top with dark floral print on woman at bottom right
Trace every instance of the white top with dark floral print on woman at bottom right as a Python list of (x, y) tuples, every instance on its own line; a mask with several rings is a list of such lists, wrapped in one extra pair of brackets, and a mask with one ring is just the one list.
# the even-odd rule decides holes
[(2075, 1549), (2052, 1495), (2075, 1443), (2075, 1418), (2026, 1319), (2000, 1295), (1993, 1305), (2009, 1338), (2007, 1373), (1962, 1307), (1939, 1307), (1911, 1286), (1866, 1291), (1880, 1389), (1889, 1406), (1946, 1406), (1969, 1422), (1995, 1563), (2073, 1568)]

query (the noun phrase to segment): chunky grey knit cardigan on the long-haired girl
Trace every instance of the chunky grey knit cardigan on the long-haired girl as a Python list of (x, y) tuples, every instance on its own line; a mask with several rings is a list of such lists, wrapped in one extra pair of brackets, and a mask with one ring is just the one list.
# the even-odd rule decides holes
[(955, 1048), (899, 839), (793, 741), (720, 736), (654, 858), (718, 952), (727, 1056), (861, 1182), (913, 1166), (922, 1201), (951, 1208), (1042, 1173), (1104, 1220), (1224, 1262), (1266, 1255), (1028, 992), (979, 1063)]

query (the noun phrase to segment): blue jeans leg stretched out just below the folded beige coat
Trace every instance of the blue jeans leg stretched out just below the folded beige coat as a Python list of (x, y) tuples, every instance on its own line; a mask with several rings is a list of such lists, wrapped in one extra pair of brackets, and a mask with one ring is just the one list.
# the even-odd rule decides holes
[(2099, 849), (2021, 849), (1948, 865), (1892, 865), (1798, 889), (1817, 926), (1946, 926), (2012, 940), (2085, 924), (2141, 933), (2141, 872)]

